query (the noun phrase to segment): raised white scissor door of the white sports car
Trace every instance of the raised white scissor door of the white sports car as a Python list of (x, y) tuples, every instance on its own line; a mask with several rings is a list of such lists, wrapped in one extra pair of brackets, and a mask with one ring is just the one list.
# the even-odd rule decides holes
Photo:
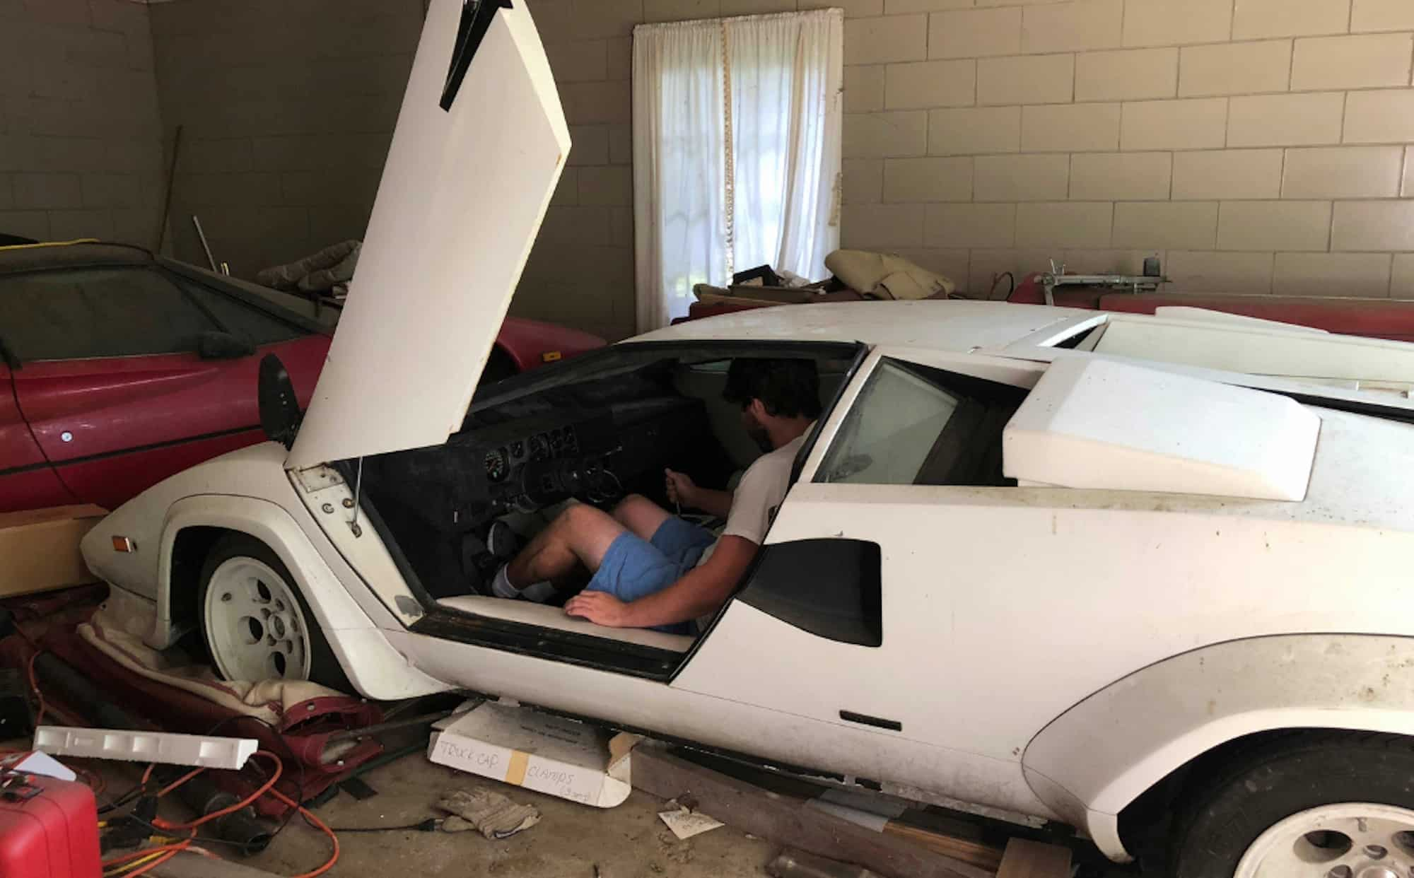
[(451, 107), (461, 0), (427, 10), (358, 274), (291, 467), (438, 445), (461, 426), (570, 133), (523, 3), (499, 8)]

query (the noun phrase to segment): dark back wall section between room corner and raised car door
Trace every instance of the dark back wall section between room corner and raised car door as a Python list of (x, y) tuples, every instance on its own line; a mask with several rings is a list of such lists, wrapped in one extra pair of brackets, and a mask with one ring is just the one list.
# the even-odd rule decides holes
[(178, 259), (191, 216), (233, 274), (362, 238), (392, 141), (421, 0), (174, 0), (148, 7), (171, 137)]

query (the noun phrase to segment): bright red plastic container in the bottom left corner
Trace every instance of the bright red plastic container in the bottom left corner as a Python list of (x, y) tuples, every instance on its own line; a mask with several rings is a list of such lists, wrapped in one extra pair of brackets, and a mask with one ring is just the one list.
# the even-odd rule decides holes
[(0, 771), (0, 875), (100, 878), (98, 807), (83, 783)]

